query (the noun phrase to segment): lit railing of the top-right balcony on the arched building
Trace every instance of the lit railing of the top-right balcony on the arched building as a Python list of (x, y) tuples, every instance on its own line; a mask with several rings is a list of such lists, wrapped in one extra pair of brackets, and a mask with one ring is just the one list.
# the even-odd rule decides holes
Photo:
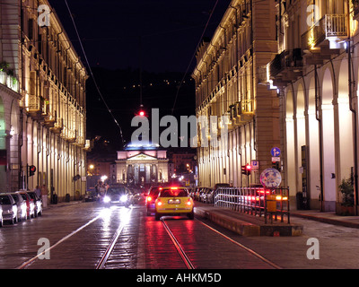
[(347, 36), (346, 14), (325, 14), (320, 21), (316, 22), (302, 34), (302, 49), (315, 48), (323, 40), (341, 38)]

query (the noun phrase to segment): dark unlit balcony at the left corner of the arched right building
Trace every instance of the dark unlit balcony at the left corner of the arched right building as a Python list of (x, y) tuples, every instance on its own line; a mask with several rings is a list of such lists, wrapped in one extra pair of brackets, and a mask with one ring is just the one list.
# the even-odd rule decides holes
[(269, 79), (274, 86), (284, 86), (302, 76), (302, 49), (285, 50), (267, 65)]

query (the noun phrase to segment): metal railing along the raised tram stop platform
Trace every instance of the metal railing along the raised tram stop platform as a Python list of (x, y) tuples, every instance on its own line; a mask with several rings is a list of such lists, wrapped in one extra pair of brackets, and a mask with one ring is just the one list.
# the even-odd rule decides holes
[(264, 187), (220, 187), (215, 190), (215, 206), (240, 213), (264, 216), (265, 223), (278, 220), (290, 223), (289, 189)]

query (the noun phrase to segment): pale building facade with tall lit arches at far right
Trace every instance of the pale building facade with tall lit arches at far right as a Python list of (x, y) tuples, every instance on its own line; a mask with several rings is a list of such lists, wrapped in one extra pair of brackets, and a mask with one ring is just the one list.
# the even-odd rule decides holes
[(340, 213), (343, 179), (358, 205), (358, 12), (350, 0), (276, 3), (277, 52), (263, 82), (278, 88), (284, 184), (302, 208)]

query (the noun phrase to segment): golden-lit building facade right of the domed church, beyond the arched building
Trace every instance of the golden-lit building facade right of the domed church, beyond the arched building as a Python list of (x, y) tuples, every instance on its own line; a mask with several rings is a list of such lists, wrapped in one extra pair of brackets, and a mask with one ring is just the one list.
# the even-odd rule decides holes
[[(258, 184), (260, 172), (272, 167), (271, 149), (280, 145), (279, 99), (276, 91), (258, 83), (257, 71), (276, 53), (276, 37), (274, 0), (233, 0), (213, 38), (198, 48), (192, 74), (197, 117), (218, 117), (214, 130), (219, 142), (198, 142), (198, 185), (246, 187)], [(223, 128), (226, 141), (221, 140)], [(258, 170), (247, 178), (241, 166), (252, 161)]]

